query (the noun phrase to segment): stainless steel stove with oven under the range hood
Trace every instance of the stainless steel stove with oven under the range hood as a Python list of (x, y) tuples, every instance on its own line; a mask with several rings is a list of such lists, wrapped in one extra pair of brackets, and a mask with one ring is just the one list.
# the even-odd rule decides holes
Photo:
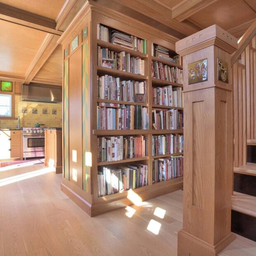
[(23, 158), (45, 156), (45, 130), (23, 127)]

